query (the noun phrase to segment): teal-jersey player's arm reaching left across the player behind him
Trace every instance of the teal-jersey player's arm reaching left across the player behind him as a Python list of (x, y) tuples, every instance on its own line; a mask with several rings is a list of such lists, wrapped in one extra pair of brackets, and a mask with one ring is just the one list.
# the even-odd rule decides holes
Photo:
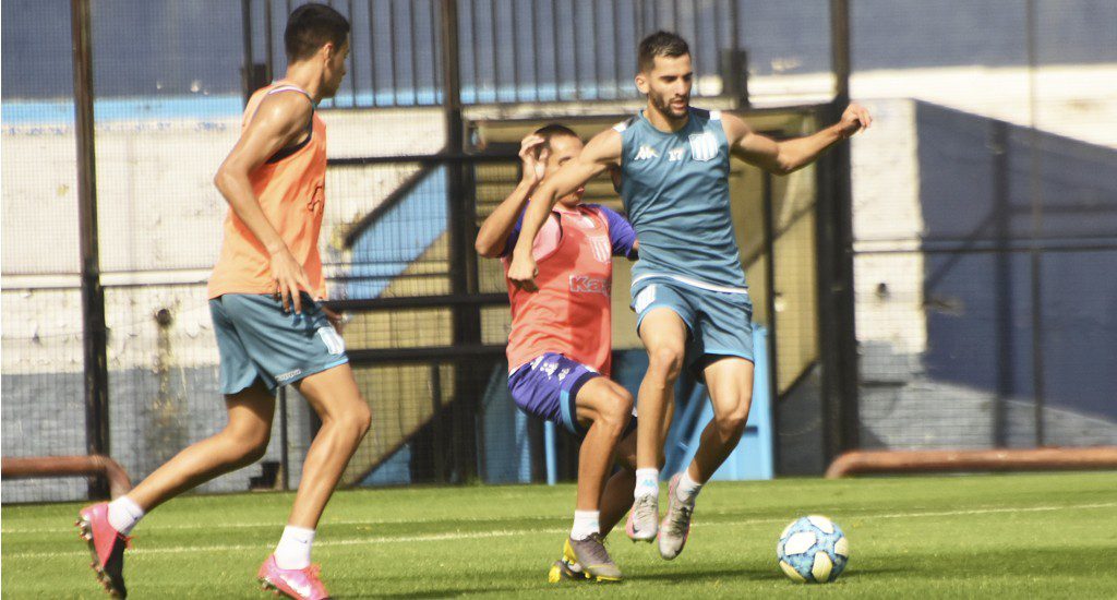
[(516, 287), (535, 292), (535, 258), (532, 248), (535, 236), (543, 223), (547, 221), (551, 209), (558, 198), (585, 185), (591, 179), (603, 173), (610, 165), (620, 164), (621, 134), (617, 130), (605, 130), (594, 135), (585, 149), (574, 160), (567, 162), (555, 174), (540, 185), (535, 196), (527, 203), (519, 239), (513, 250), (512, 264), (508, 266), (508, 279)]

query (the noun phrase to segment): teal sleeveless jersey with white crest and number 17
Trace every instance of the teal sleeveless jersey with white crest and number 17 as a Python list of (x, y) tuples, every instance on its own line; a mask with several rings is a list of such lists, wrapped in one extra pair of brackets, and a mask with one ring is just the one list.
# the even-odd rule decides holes
[(690, 108), (675, 133), (643, 112), (617, 124), (620, 194), (640, 241), (632, 285), (670, 278), (717, 292), (747, 293), (729, 211), (729, 144), (720, 113)]

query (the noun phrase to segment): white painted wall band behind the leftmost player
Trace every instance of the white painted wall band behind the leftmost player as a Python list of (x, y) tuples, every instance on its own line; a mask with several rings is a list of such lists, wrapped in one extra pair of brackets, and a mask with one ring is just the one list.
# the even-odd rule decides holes
[[(426, 154), (445, 140), (438, 109), (326, 111), (323, 118), (331, 156)], [(98, 125), (98, 235), (111, 369), (154, 364), (153, 315), (160, 308), (174, 315), (170, 335), (178, 364), (216, 364), (204, 282), (220, 248), (227, 206), (212, 178), (238, 133), (237, 118)], [(79, 372), (74, 131), (6, 126), (0, 140), (3, 372)], [(330, 170), (324, 260), (341, 251), (346, 228), (416, 169)]]

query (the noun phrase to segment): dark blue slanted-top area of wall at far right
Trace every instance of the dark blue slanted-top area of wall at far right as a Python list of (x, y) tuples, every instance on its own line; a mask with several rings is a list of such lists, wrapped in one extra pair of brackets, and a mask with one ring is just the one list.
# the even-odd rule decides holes
[[(1048, 406), (1117, 420), (1117, 151), (929, 104), (917, 107), (927, 374), (1033, 393), (1032, 182)], [(1032, 164), (1038, 164), (1033, 180)], [(1095, 246), (1096, 249), (1090, 249)], [(1108, 246), (1109, 249), (1100, 249)]]

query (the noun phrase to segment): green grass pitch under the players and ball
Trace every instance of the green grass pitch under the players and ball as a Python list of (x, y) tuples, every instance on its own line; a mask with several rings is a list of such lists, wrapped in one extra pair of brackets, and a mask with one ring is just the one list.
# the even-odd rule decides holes
[[(618, 531), (620, 584), (546, 583), (570, 526), (571, 485), (342, 492), (315, 562), (338, 598), (1117, 598), (1117, 474), (782, 479), (703, 492), (672, 562)], [(255, 572), (289, 494), (194, 496), (137, 527), (134, 598), (266, 598)], [(4, 506), (4, 598), (98, 598), (76, 504)], [(836, 583), (784, 578), (775, 544), (793, 517), (831, 516), (850, 539)]]

